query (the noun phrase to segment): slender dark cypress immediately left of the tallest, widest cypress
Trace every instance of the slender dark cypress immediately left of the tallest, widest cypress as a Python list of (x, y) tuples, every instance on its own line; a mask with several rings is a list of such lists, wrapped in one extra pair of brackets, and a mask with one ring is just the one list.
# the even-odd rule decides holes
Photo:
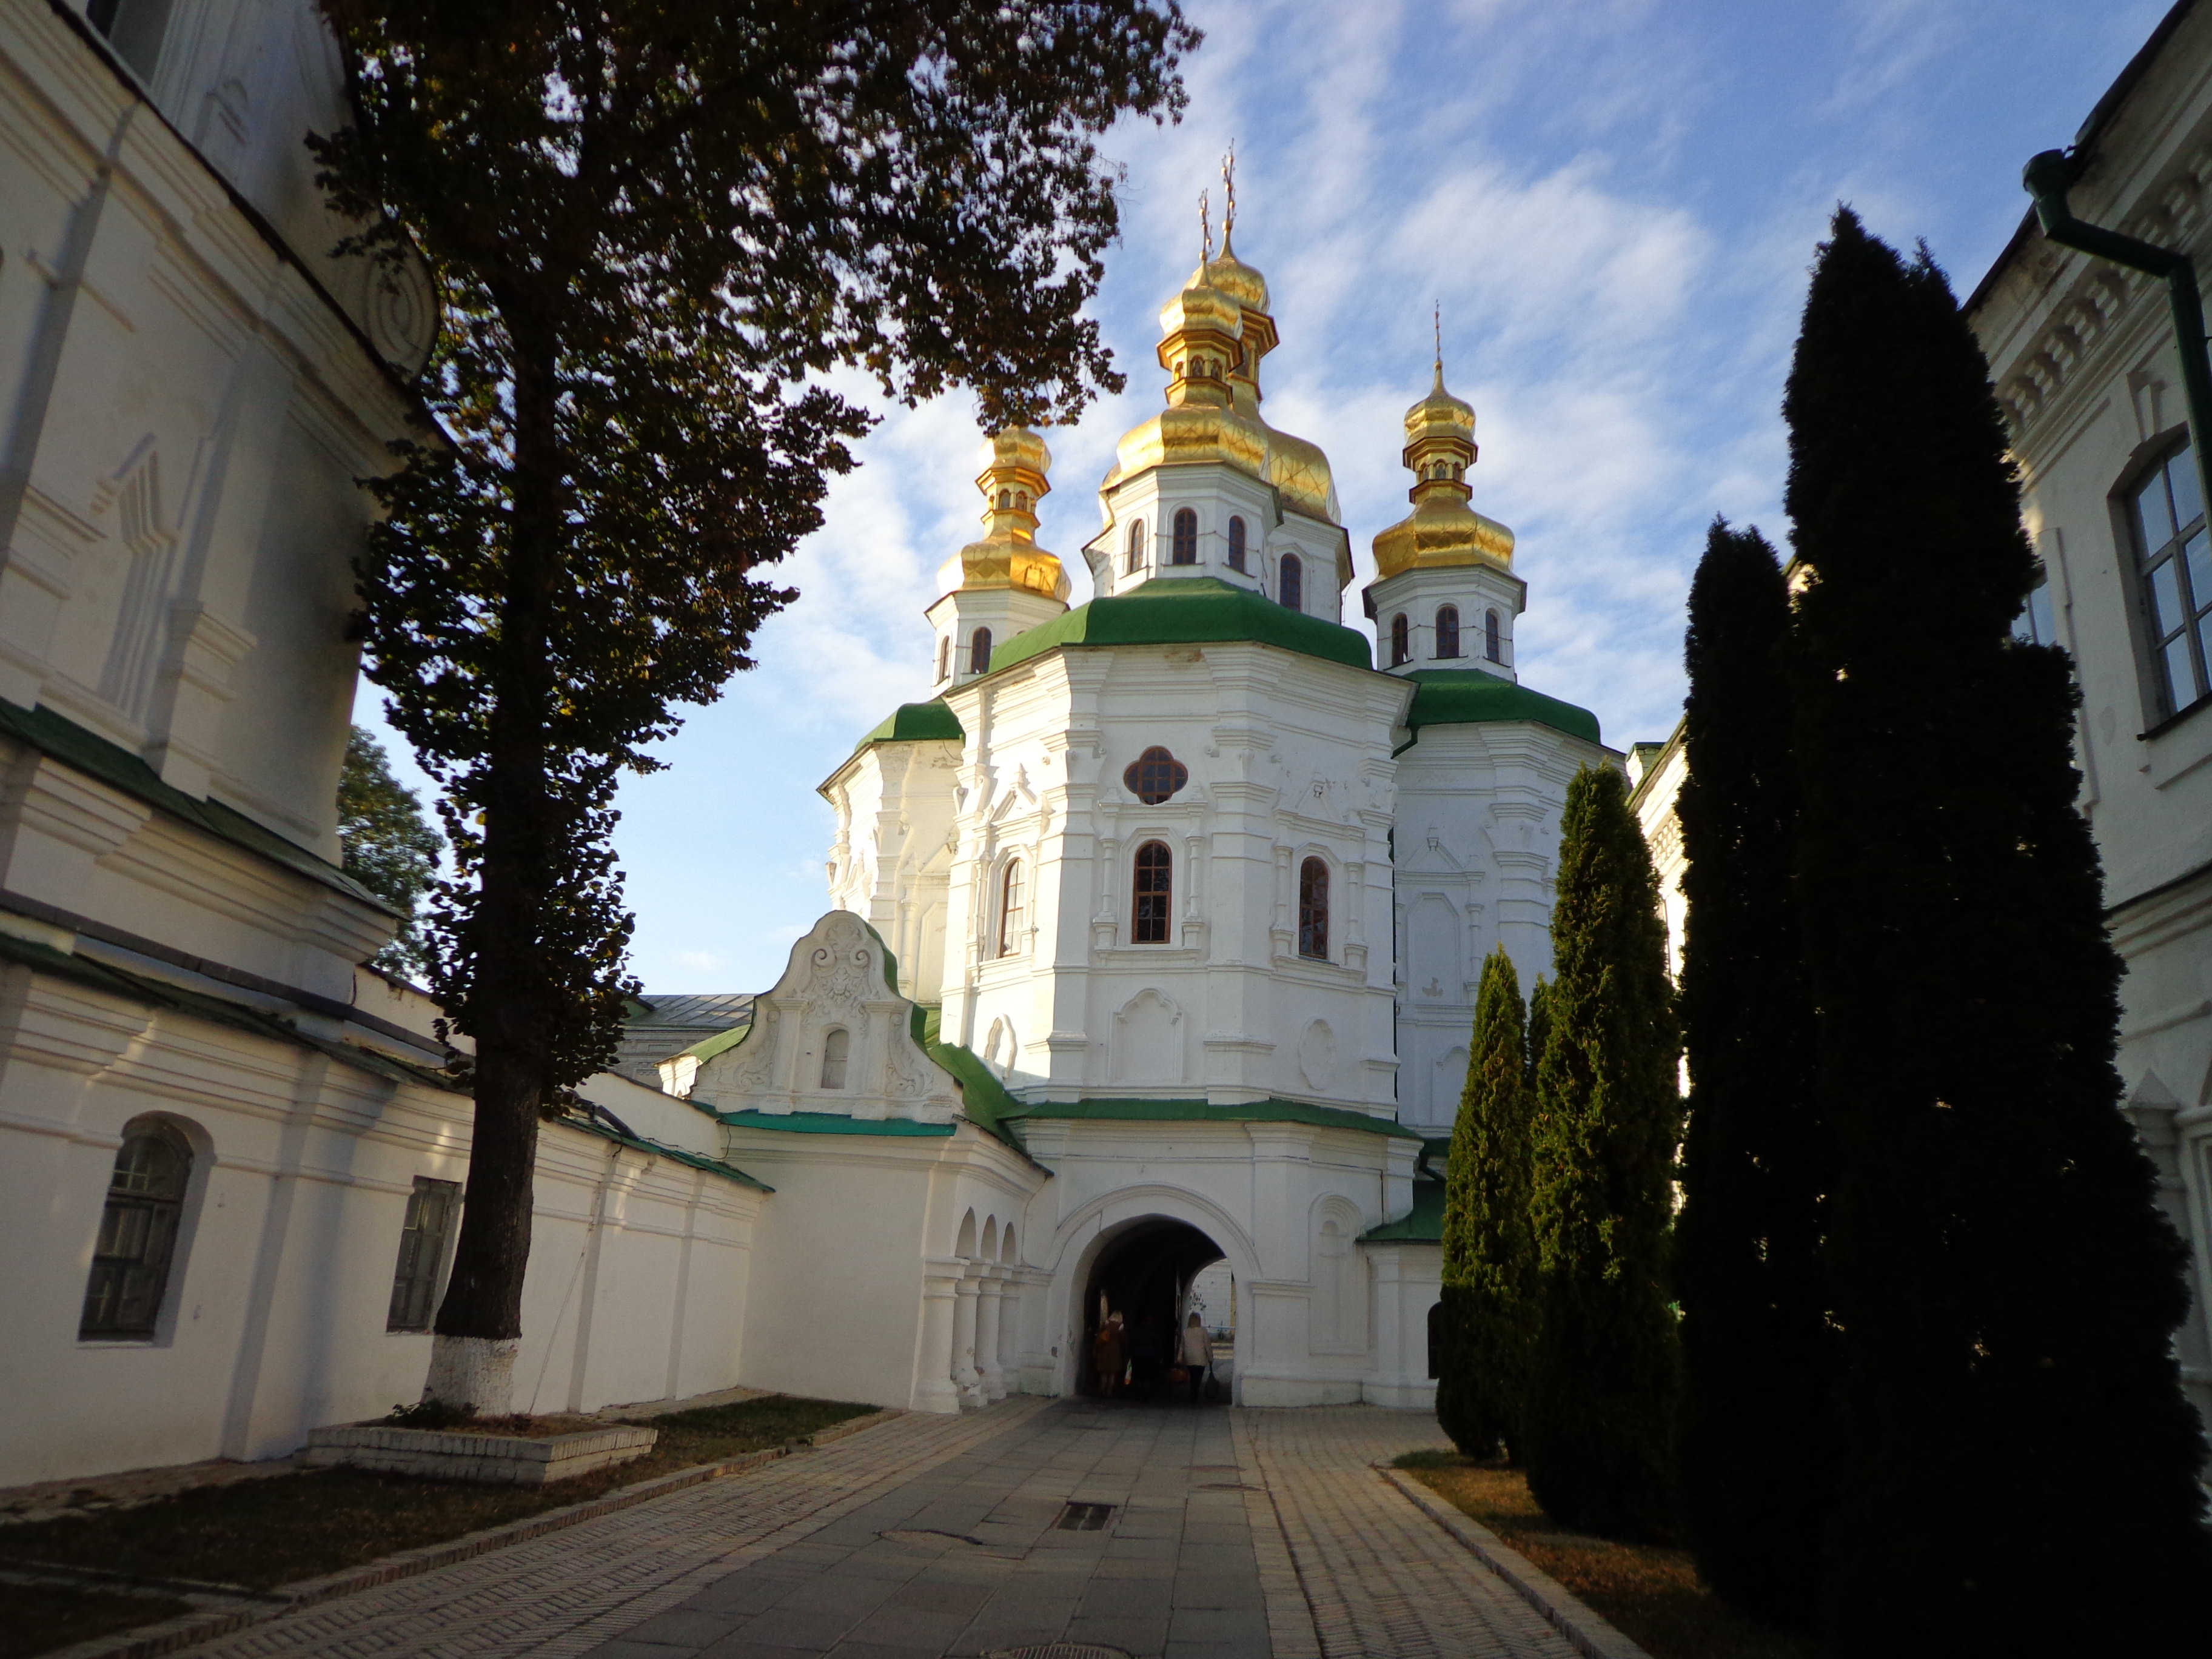
[(1690, 765), (1674, 803), (1690, 900), (1677, 1498), (1697, 1571), (1719, 1595), (1807, 1626), (1836, 1486), (1836, 1340), (1820, 1272), (1829, 1157), (1812, 1104), (1787, 641), (1774, 549), (1756, 529), (1714, 522), (1690, 584)]

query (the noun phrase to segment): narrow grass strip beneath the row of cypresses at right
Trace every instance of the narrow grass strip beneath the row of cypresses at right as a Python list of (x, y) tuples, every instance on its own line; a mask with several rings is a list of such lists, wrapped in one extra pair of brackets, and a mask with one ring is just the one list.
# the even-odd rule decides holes
[(1823, 1659), (1827, 1652), (1809, 1637), (1776, 1630), (1721, 1601), (1697, 1582), (1690, 1551), (1564, 1531), (1537, 1509), (1520, 1469), (1451, 1451), (1409, 1451), (1398, 1467), (1613, 1619), (1652, 1659)]

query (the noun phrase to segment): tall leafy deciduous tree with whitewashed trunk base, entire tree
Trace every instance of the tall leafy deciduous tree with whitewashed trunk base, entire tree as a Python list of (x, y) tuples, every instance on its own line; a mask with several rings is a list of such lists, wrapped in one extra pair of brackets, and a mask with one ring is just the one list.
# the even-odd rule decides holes
[(1172, 115), (1172, 0), (323, 0), (354, 126), (334, 204), (445, 296), (363, 566), (369, 677), (440, 779), (460, 880), (434, 989), (476, 1037), (429, 1396), (504, 1409), (538, 1119), (615, 1053), (613, 790), (792, 595), (867, 418), (847, 363), (984, 420), (1119, 387), (1082, 316), (1115, 234), (1095, 137)]

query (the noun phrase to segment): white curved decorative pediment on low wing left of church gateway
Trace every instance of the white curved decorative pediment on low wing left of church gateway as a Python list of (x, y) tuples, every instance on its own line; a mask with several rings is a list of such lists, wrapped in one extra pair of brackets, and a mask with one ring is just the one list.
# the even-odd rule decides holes
[(792, 945), (743, 1042), (699, 1062), (690, 1097), (717, 1113), (830, 1113), (949, 1124), (953, 1079), (914, 1040), (883, 938), (834, 909)]

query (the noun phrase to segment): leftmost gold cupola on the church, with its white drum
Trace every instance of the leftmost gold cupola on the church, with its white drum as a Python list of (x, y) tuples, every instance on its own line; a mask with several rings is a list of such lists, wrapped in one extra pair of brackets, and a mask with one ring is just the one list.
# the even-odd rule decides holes
[(984, 445), (980, 542), (938, 568), (940, 599), (925, 613), (936, 633), (936, 688), (991, 672), (991, 653), (1068, 608), (1068, 573), (1037, 546), (1037, 502), (1051, 491), (1044, 438), (1009, 427)]

